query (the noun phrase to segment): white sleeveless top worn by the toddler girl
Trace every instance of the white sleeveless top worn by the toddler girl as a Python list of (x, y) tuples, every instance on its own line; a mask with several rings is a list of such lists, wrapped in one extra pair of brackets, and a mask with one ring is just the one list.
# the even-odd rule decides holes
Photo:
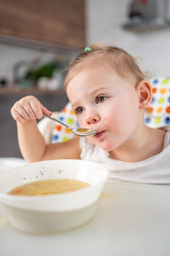
[(108, 157), (108, 152), (81, 137), (81, 159), (95, 161), (110, 172), (110, 177), (136, 183), (170, 183), (170, 131), (166, 132), (161, 153), (139, 162), (123, 162)]

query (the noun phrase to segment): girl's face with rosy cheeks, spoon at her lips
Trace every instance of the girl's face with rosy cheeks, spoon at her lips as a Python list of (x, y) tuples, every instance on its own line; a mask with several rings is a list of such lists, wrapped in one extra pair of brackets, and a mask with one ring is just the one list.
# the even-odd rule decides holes
[(132, 77), (91, 66), (77, 73), (66, 91), (79, 125), (99, 132), (90, 142), (111, 151), (135, 139), (141, 110)]

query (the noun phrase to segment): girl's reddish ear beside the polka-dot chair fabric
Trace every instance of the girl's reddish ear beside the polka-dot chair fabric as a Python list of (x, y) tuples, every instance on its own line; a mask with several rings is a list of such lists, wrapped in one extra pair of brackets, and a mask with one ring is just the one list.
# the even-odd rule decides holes
[(149, 82), (142, 80), (136, 85), (136, 91), (139, 96), (139, 108), (148, 108), (152, 98), (152, 90)]

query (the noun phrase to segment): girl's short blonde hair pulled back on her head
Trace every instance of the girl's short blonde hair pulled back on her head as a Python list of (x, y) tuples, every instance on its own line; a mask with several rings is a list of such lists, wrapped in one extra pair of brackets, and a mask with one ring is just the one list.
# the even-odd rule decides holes
[(68, 73), (65, 76), (65, 89), (67, 84), (77, 73), (81, 72), (83, 67), (88, 67), (88, 61), (96, 61), (101, 65), (107, 65), (115, 70), (122, 78), (128, 78), (132, 75), (136, 78), (138, 84), (146, 79), (146, 75), (141, 71), (137, 64), (137, 58), (129, 55), (124, 49), (114, 46), (104, 46), (101, 44), (92, 44), (89, 48), (71, 61)]

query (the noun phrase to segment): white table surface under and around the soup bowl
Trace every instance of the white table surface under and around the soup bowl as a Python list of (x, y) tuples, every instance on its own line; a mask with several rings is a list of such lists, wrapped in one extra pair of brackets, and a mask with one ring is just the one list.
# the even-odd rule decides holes
[(109, 180), (94, 218), (76, 230), (31, 235), (0, 207), (1, 256), (169, 256), (170, 187)]

